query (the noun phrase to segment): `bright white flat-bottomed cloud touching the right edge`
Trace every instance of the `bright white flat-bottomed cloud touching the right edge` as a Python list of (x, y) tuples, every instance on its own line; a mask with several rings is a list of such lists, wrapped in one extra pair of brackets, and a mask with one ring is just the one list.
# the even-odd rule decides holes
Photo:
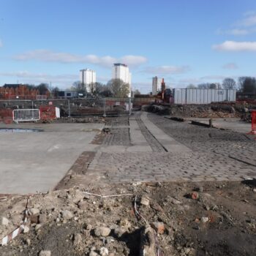
[(213, 45), (214, 50), (219, 51), (256, 51), (256, 42), (225, 41), (219, 45)]

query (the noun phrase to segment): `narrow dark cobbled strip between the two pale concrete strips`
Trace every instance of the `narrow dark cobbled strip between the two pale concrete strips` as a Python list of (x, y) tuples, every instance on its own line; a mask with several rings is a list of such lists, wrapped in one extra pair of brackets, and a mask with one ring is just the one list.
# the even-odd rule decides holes
[(158, 142), (156, 138), (148, 131), (146, 125), (140, 119), (140, 113), (135, 114), (135, 119), (140, 127), (140, 131), (143, 134), (144, 138), (148, 142), (148, 145), (151, 146), (153, 152), (165, 152), (165, 148)]

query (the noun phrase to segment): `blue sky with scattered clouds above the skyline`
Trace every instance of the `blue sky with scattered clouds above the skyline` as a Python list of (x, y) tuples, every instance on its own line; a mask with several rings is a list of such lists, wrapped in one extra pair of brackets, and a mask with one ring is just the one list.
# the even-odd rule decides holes
[(61, 89), (114, 62), (132, 86), (170, 87), (256, 76), (255, 0), (0, 0), (0, 85), (52, 83)]

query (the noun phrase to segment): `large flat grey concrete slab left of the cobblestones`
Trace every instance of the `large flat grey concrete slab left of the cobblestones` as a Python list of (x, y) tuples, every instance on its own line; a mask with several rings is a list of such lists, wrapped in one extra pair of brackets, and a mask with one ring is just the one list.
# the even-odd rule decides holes
[[(47, 192), (58, 184), (104, 124), (15, 124), (0, 128), (44, 132), (0, 133), (0, 193)], [(85, 131), (86, 130), (86, 131)]]

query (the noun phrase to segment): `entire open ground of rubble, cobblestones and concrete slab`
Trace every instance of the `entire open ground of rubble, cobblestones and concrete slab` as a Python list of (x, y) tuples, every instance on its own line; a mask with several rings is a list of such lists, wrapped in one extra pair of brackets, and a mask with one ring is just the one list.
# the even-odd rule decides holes
[[(39, 255), (43, 250), (51, 255), (90, 256), (157, 256), (157, 250), (158, 255), (166, 256), (255, 255), (253, 135), (197, 127), (146, 112), (106, 118), (105, 124), (19, 126), (41, 127), (45, 132), (26, 133), (25, 138), (16, 136), (18, 133), (13, 138), (10, 133), (0, 134), (1, 162), (8, 163), (0, 192), (34, 193), (28, 181), (33, 172), (37, 176), (32, 182), (45, 181), (45, 187), (40, 190), (37, 184), (36, 190), (50, 192), (32, 195), (29, 208), (37, 211), (31, 213), (29, 231), (1, 246), (1, 255)], [(31, 167), (40, 154), (32, 147), (29, 151), (29, 143), (23, 145), (26, 141), (37, 144), (41, 151), (45, 162), (38, 165), (44, 167), (52, 156), (47, 167)], [(62, 142), (67, 144), (62, 147)], [(49, 148), (53, 148), (52, 155)], [(31, 155), (31, 162), (22, 157), (25, 152)], [(30, 168), (28, 179), (21, 180), (20, 166), (23, 171)], [(15, 183), (31, 191), (18, 192)], [(27, 197), (1, 195), (0, 217), (9, 223), (0, 223), (0, 238), (20, 225)], [(148, 225), (157, 232), (152, 231), (151, 243), (145, 238)], [(143, 254), (147, 243), (154, 246), (148, 255)]]

